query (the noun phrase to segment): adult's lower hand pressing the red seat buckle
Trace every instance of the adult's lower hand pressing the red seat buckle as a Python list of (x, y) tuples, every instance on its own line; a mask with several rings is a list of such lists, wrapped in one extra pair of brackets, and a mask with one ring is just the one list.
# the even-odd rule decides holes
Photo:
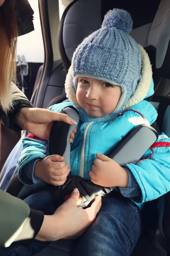
[(82, 235), (94, 222), (102, 205), (100, 196), (87, 209), (77, 207), (79, 191), (74, 189), (71, 197), (65, 201), (54, 215), (45, 215), (42, 227), (36, 236), (40, 241), (56, 241), (59, 239), (74, 239)]

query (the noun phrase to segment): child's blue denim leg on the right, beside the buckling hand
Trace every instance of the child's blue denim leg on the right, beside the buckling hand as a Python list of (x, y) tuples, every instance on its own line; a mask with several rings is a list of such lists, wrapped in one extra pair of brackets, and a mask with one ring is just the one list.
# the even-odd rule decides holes
[(79, 239), (74, 256), (129, 256), (142, 230), (141, 213), (128, 198), (102, 198), (96, 221)]

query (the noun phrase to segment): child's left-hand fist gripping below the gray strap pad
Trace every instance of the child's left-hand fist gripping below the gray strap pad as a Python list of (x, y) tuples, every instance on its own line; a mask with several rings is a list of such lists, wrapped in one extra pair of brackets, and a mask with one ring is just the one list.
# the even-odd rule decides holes
[(51, 155), (38, 161), (34, 167), (35, 177), (54, 186), (61, 186), (70, 172), (63, 159), (64, 157), (59, 155)]

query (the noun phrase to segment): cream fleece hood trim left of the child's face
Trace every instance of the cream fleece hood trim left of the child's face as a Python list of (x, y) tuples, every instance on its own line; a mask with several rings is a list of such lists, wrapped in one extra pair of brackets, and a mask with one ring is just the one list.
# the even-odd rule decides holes
[(71, 103), (73, 103), (74, 106), (80, 107), (79, 103), (77, 102), (76, 99), (76, 92), (74, 89), (74, 77), (73, 77), (73, 68), (72, 65), (70, 66), (68, 70), (68, 74), (65, 79), (65, 92), (66, 92), (66, 97), (69, 99)]

